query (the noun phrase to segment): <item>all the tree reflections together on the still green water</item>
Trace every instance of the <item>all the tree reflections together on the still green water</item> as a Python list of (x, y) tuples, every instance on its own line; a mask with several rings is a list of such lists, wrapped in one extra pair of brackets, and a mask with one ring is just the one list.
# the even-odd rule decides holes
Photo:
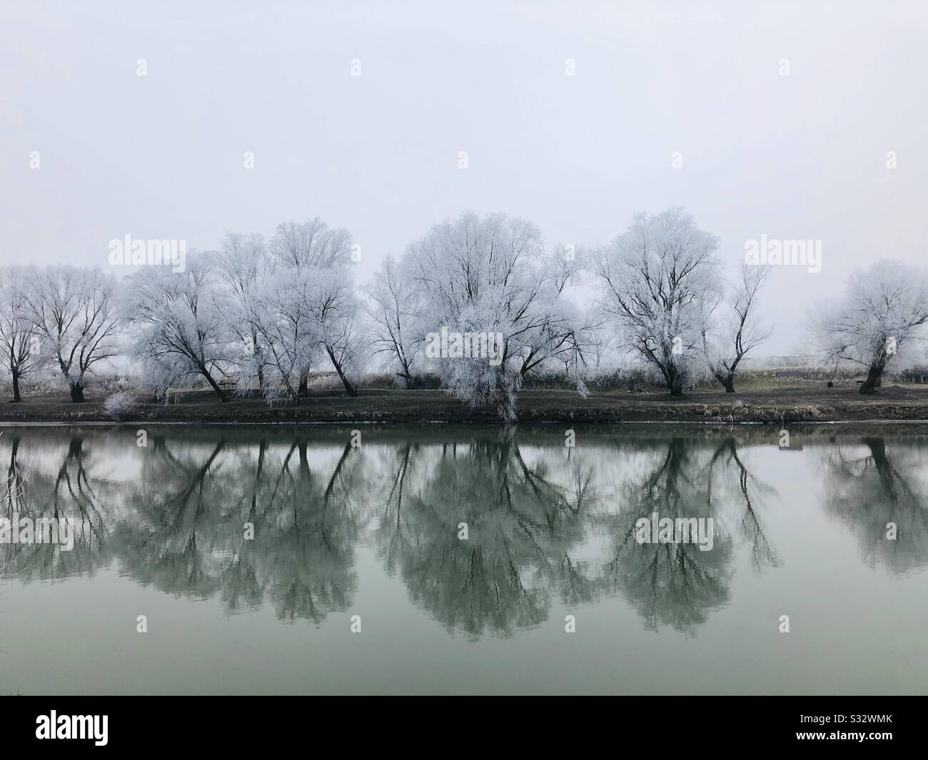
[[(71, 516), (77, 534), (71, 552), (0, 547), (26, 582), (115, 562), (143, 586), (319, 625), (351, 608), (368, 546), (413, 603), (469, 637), (541, 625), (555, 600), (573, 611), (615, 597), (652, 630), (691, 634), (728, 603), (739, 547), (758, 572), (779, 563), (764, 528), (778, 495), (749, 470), (745, 434), (599, 433), (575, 448), (557, 432), (482, 427), (370, 432), (360, 448), (350, 437), (157, 429), (137, 448), (124, 429), (7, 431), (4, 509)], [(889, 448), (830, 446), (827, 509), (870, 562), (905, 572), (928, 547), (914, 475), (925, 449)], [(635, 523), (652, 512), (713, 518), (713, 548), (638, 544)], [(882, 539), (886, 522), (896, 542)]]

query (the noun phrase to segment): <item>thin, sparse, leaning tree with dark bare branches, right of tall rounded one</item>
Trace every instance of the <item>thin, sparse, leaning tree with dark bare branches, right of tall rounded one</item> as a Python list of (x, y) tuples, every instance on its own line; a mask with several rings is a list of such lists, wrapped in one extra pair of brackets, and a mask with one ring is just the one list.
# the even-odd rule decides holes
[(768, 266), (741, 265), (738, 280), (725, 299), (707, 293), (703, 301), (700, 331), (706, 365), (725, 393), (735, 393), (735, 377), (741, 359), (767, 341), (772, 329), (758, 323), (754, 314), (757, 294), (770, 272)]

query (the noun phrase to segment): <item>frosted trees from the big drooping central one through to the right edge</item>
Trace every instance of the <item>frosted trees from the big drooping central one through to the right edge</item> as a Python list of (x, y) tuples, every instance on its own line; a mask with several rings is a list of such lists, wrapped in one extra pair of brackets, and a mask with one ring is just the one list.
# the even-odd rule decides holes
[[(411, 382), (423, 336), (436, 325), (501, 331), (502, 365), (451, 359), (439, 373), (473, 403), (500, 399), (504, 417), (522, 378), (538, 367), (561, 363), (586, 393), (584, 376), (611, 341), (674, 395), (701, 371), (734, 393), (744, 357), (772, 332), (757, 316), (770, 267), (744, 264), (726, 282), (717, 251), (717, 238), (680, 208), (637, 214), (605, 246), (549, 252), (534, 225), (465, 213), (383, 264), (369, 291), (375, 344)], [(598, 292), (586, 309), (568, 296), (581, 278)], [(817, 304), (810, 317), (823, 363), (864, 367), (860, 392), (873, 393), (893, 356), (922, 337), (928, 280), (917, 267), (879, 261), (852, 277), (843, 299)]]

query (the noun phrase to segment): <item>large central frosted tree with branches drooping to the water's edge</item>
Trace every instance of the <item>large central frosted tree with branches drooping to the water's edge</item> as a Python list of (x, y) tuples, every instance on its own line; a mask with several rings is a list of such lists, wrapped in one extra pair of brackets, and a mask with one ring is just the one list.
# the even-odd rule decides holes
[[(485, 339), (483, 355), (466, 355), (449, 344), (449, 351), (433, 357), (443, 387), (472, 406), (496, 403), (503, 419), (516, 417), (523, 373), (560, 350), (562, 335), (572, 329), (555, 308), (562, 288), (546, 261), (537, 227), (501, 213), (462, 213), (434, 225), (406, 250), (421, 304), (417, 333), (435, 336), (445, 329), (458, 339)], [(556, 322), (560, 326), (552, 327)], [(497, 335), (502, 339), (491, 352), (490, 339)], [(533, 351), (543, 355), (533, 358)]]

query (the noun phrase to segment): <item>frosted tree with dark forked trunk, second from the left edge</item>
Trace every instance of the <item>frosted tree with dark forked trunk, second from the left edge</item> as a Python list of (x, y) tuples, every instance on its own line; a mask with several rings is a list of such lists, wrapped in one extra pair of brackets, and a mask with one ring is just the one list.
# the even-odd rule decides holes
[(84, 401), (84, 380), (98, 362), (118, 354), (116, 280), (99, 269), (33, 267), (25, 312), (40, 353), (61, 371), (71, 401)]

